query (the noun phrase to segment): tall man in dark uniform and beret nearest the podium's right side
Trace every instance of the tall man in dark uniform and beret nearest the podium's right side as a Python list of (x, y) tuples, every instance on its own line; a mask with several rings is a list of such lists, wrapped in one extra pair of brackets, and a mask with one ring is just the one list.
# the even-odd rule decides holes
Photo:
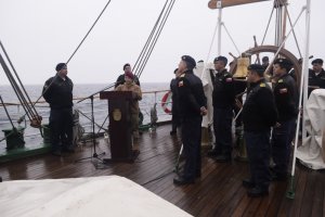
[(200, 79), (194, 75), (196, 63), (190, 55), (183, 55), (179, 64), (178, 94), (184, 145), (184, 174), (173, 179), (174, 184), (194, 183), (200, 177), (200, 124), (207, 114), (207, 99)]

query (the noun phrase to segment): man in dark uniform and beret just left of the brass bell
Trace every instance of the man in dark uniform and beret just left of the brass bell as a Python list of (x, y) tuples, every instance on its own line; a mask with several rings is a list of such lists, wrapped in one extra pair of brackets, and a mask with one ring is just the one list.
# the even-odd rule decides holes
[(232, 119), (235, 88), (232, 74), (225, 69), (226, 58), (218, 56), (213, 63), (217, 71), (212, 92), (216, 144), (208, 152), (208, 155), (216, 156), (217, 162), (229, 162), (232, 155)]

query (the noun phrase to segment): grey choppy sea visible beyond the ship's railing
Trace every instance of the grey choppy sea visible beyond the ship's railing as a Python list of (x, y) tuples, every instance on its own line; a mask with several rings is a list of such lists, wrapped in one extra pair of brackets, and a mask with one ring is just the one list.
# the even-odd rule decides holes
[[(79, 124), (83, 127), (84, 132), (92, 131), (91, 124), (91, 100), (90, 97), (94, 93), (93, 107), (94, 107), (94, 120), (95, 120), (95, 132), (103, 132), (100, 126), (103, 128), (108, 128), (108, 103), (107, 100), (100, 100), (99, 92), (102, 90), (108, 91), (112, 89), (106, 89), (109, 87), (107, 84), (87, 84), (74, 86), (74, 108), (79, 111)], [(42, 85), (28, 85), (24, 86), (28, 97), (31, 102), (37, 101), (42, 92)], [(166, 114), (161, 107), (161, 98), (168, 92), (168, 82), (141, 82), (141, 89), (143, 92), (143, 99), (139, 102), (140, 110), (143, 114), (143, 124), (150, 124), (151, 122), (151, 108), (157, 103), (157, 116), (158, 122), (170, 120), (171, 115)], [(24, 140), (26, 142), (25, 146), (28, 144), (36, 144), (42, 142), (42, 137), (38, 128), (30, 127), (28, 117), (25, 115), (23, 106), (18, 103), (18, 98), (15, 94), (14, 89), (11, 86), (0, 86), (0, 95), (3, 102), (6, 104), (3, 106), (0, 102), (0, 152), (5, 149), (6, 141), (3, 130), (12, 129), (12, 124), (14, 127), (24, 127)], [(82, 101), (81, 101), (82, 100)], [(37, 113), (42, 117), (42, 125), (49, 124), (50, 107), (49, 104), (44, 102), (43, 98), (40, 98), (39, 102), (35, 105)], [(5, 110), (8, 114), (5, 113)], [(82, 113), (82, 114), (81, 114)], [(17, 120), (25, 116), (25, 120), (21, 124)], [(12, 120), (12, 124), (10, 122)]]

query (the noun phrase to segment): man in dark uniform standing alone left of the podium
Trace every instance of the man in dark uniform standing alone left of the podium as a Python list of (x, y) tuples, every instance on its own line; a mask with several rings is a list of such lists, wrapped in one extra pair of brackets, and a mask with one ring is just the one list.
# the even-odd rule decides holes
[(73, 146), (73, 89), (74, 84), (67, 77), (67, 66), (58, 63), (56, 75), (49, 78), (43, 87), (43, 98), (50, 104), (50, 129), (52, 154), (62, 151), (74, 152)]

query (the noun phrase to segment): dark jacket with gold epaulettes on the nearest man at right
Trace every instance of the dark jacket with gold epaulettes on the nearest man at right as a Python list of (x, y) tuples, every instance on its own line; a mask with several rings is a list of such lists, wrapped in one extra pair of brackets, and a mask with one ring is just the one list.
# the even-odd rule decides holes
[(277, 119), (272, 89), (264, 81), (251, 84), (243, 106), (245, 131), (262, 132), (271, 129)]

